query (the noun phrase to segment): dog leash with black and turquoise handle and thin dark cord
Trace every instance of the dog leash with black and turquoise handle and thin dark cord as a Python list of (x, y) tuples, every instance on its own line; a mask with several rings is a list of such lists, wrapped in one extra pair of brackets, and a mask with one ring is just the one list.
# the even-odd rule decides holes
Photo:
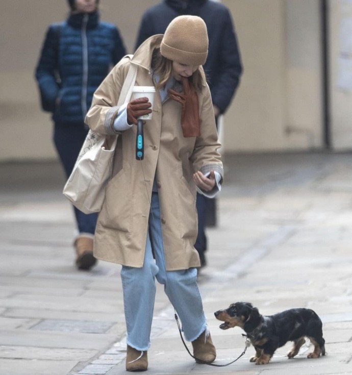
[[(141, 162), (141, 168), (142, 168), (142, 173), (143, 173), (143, 179), (144, 179), (144, 183), (145, 183), (145, 187), (146, 187), (146, 191), (147, 191), (147, 195), (148, 195), (148, 203), (149, 205), (152, 204), (152, 199), (150, 198), (149, 194), (148, 194), (148, 189), (147, 189), (147, 185), (146, 185), (146, 181), (145, 181), (145, 174), (144, 174), (144, 169), (143, 169), (143, 163), (142, 163), (142, 160), (144, 158), (144, 139), (143, 139), (143, 122), (141, 120), (138, 120), (138, 125), (137, 125), (137, 137), (136, 137), (136, 159), (137, 160), (140, 160)], [(153, 214), (153, 210), (151, 211), (152, 212), (152, 219), (153, 219), (153, 222), (155, 223), (155, 219), (154, 219), (154, 214)], [(158, 238), (158, 242), (159, 242), (159, 238)], [(159, 247), (161, 248), (160, 246), (160, 243), (158, 243)], [(166, 271), (166, 264), (164, 264), (164, 267), (165, 267), (165, 271)], [(167, 272), (166, 273), (166, 280), (167, 280)], [(246, 337), (246, 340), (245, 340), (245, 346), (244, 346), (244, 350), (243, 352), (232, 362), (230, 363), (226, 363), (226, 364), (222, 364), (222, 365), (218, 365), (218, 364), (215, 364), (215, 363), (212, 363), (212, 362), (207, 362), (207, 361), (203, 361), (202, 359), (199, 359), (195, 356), (193, 356), (191, 354), (191, 352), (189, 351), (186, 343), (185, 343), (185, 340), (182, 336), (182, 332), (181, 332), (181, 326), (180, 326), (180, 321), (179, 321), (179, 317), (176, 313), (176, 310), (175, 308), (173, 308), (173, 311), (174, 311), (174, 317), (175, 317), (175, 320), (177, 322), (177, 327), (179, 329), (179, 332), (180, 332), (180, 337), (181, 337), (181, 340), (183, 342), (183, 345), (185, 346), (186, 348), (186, 351), (188, 352), (188, 354), (193, 358), (195, 359), (195, 361), (197, 363), (203, 363), (205, 365), (209, 365), (209, 366), (214, 366), (214, 367), (225, 367), (225, 366), (229, 366), (233, 363), (235, 363), (236, 361), (238, 361), (246, 352), (247, 350), (247, 347), (250, 346), (250, 340), (248, 337), (246, 337), (246, 335), (243, 335), (242, 336), (245, 336)]]

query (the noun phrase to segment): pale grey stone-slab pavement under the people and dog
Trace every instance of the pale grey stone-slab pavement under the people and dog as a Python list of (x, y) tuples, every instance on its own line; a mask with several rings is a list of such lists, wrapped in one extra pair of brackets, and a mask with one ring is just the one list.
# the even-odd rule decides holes
[[(158, 285), (148, 374), (352, 374), (352, 154), (225, 155), (218, 226), (199, 274), (216, 364), (243, 351), (243, 331), (214, 311), (251, 302), (268, 315), (307, 307), (323, 321), (326, 356), (291, 343), (267, 365), (253, 347), (226, 367), (196, 364)], [(58, 163), (0, 164), (0, 374), (125, 374), (120, 266), (73, 265), (72, 210)], [(190, 347), (190, 345), (188, 345)]]

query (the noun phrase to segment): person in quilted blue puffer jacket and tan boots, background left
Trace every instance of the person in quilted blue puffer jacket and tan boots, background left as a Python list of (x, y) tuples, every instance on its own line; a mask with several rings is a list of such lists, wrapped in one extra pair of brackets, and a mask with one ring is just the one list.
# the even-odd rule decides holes
[[(93, 93), (111, 67), (125, 54), (118, 29), (99, 21), (99, 0), (68, 0), (66, 21), (46, 32), (35, 77), (42, 109), (53, 114), (54, 143), (67, 178), (88, 132), (84, 119)], [(74, 240), (76, 266), (90, 269), (97, 214), (74, 208), (78, 235)]]

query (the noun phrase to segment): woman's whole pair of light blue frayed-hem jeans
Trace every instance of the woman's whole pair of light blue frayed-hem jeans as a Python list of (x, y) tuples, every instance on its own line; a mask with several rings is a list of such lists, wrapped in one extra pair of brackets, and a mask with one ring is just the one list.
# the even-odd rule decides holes
[(152, 194), (143, 267), (122, 266), (121, 270), (127, 344), (139, 351), (147, 351), (150, 345), (155, 278), (164, 285), (164, 291), (180, 317), (186, 340), (194, 341), (206, 329), (197, 269), (166, 271), (157, 193)]

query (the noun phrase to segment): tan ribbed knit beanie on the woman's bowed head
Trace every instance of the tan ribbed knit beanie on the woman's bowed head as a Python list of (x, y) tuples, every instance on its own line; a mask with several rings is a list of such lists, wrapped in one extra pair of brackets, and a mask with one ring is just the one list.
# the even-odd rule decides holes
[(186, 65), (203, 65), (208, 56), (207, 26), (197, 16), (179, 16), (167, 27), (160, 53), (169, 60)]

